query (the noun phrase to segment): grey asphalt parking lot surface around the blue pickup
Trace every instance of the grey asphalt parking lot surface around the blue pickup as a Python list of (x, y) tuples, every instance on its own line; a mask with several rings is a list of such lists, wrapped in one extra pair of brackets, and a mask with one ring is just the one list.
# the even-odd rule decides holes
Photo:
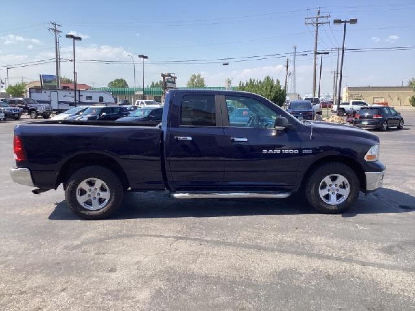
[(376, 132), (384, 188), (342, 215), (303, 198), (128, 194), (82, 221), (63, 190), (14, 184), (0, 122), (1, 310), (415, 310), (415, 110)]

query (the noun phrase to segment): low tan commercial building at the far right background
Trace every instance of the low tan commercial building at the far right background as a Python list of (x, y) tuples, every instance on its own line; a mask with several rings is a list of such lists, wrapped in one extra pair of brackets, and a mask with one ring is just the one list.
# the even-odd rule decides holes
[(410, 86), (362, 86), (344, 87), (343, 101), (364, 100), (369, 104), (387, 103), (389, 106), (410, 106), (415, 95)]

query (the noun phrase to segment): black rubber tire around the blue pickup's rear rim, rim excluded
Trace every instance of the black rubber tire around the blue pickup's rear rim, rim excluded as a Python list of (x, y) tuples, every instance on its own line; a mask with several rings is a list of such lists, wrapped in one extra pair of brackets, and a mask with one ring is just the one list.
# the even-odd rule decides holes
[[(78, 185), (88, 178), (98, 178), (105, 182), (110, 191), (108, 203), (102, 209), (89, 210), (85, 209), (76, 199), (76, 190)], [(77, 170), (69, 177), (66, 183), (65, 199), (69, 208), (78, 217), (85, 220), (105, 219), (117, 211), (124, 197), (124, 189), (120, 178), (112, 171), (103, 166), (91, 165)]]

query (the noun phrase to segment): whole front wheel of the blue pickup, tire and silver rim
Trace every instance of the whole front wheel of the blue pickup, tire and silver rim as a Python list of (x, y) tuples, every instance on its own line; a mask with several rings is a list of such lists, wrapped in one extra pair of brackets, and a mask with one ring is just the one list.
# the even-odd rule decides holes
[(305, 197), (317, 211), (338, 214), (347, 210), (359, 197), (360, 182), (356, 173), (342, 163), (327, 163), (317, 168), (305, 183)]

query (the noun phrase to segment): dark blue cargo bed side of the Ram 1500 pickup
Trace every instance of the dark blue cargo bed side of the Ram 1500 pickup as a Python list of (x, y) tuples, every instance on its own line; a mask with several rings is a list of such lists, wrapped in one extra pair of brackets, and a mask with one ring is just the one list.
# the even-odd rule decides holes
[[(66, 163), (85, 159), (115, 165), (132, 189), (164, 189), (159, 122), (32, 121), (16, 126), (35, 185), (56, 188)], [(71, 166), (71, 165), (69, 165)]]

